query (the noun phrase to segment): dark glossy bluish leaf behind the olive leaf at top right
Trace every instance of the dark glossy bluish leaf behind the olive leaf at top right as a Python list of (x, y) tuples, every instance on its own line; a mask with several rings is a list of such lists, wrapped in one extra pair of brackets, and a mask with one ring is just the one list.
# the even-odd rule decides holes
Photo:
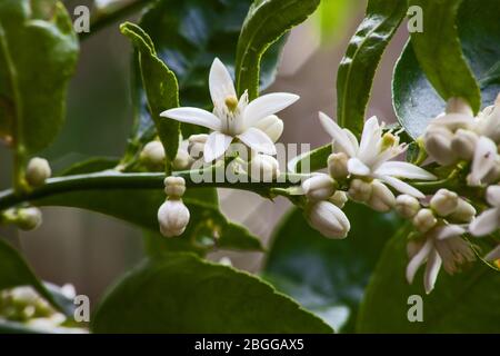
[[(500, 23), (497, 21), (499, 16), (500, 6), (497, 1), (464, 0), (458, 13), (457, 24), (462, 51), (481, 86), (483, 107), (492, 105), (500, 92), (500, 81), (498, 80), (500, 48), (497, 46), (500, 41)], [(427, 18), (429, 18), (429, 21), (440, 23), (433, 14)], [(427, 28), (424, 30), (426, 32), (429, 31)], [(450, 41), (447, 40), (446, 42)], [(450, 62), (447, 58), (442, 60), (446, 60), (449, 65), (453, 63), (451, 58)], [(433, 58), (429, 60), (432, 60), (432, 66), (436, 69), (443, 66), (443, 63), (434, 61)], [(447, 68), (443, 68), (442, 76), (446, 75), (446, 78), (449, 78)], [(468, 76), (468, 71), (457, 75), (456, 78), (462, 78), (466, 75)], [(469, 90), (470, 95), (474, 93), (476, 96), (474, 88), (477, 85), (464, 87), (468, 81), (460, 80), (458, 82), (452, 78), (448, 80), (450, 86), (463, 86), (463, 90)], [(413, 138), (422, 135), (428, 122), (444, 111), (446, 102), (436, 92), (421, 70), (411, 44), (407, 44), (396, 66), (392, 98), (399, 121)], [(472, 105), (476, 106), (474, 102)]]

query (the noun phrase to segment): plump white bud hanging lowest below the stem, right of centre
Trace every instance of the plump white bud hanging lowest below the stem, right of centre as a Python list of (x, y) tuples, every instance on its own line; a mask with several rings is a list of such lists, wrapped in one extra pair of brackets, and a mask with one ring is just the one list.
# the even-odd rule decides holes
[(309, 224), (326, 237), (344, 238), (351, 225), (346, 214), (328, 201), (318, 201), (307, 209)]

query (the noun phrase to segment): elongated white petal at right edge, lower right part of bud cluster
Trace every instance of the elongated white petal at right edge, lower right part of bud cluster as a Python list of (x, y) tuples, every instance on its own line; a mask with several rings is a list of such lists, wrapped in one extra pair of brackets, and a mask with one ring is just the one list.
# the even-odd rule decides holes
[(476, 145), (472, 169), (467, 178), (471, 186), (479, 186), (486, 175), (493, 168), (497, 157), (497, 145), (488, 137), (481, 136)]

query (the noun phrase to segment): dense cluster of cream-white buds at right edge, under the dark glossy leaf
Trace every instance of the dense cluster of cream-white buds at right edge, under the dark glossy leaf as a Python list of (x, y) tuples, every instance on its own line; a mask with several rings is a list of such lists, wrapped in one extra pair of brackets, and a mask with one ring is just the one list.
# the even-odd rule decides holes
[(446, 112), (430, 121), (423, 144), (428, 155), (441, 166), (471, 161), (467, 178), (470, 186), (497, 182), (500, 179), (500, 96), (477, 117), (466, 101), (450, 99)]

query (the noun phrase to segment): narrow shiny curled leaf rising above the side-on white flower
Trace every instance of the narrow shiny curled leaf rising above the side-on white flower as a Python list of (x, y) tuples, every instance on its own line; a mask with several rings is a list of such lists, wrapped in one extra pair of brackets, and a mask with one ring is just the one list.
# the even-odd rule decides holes
[(401, 0), (370, 0), (337, 73), (337, 120), (361, 135), (373, 77), (389, 41), (407, 12)]

